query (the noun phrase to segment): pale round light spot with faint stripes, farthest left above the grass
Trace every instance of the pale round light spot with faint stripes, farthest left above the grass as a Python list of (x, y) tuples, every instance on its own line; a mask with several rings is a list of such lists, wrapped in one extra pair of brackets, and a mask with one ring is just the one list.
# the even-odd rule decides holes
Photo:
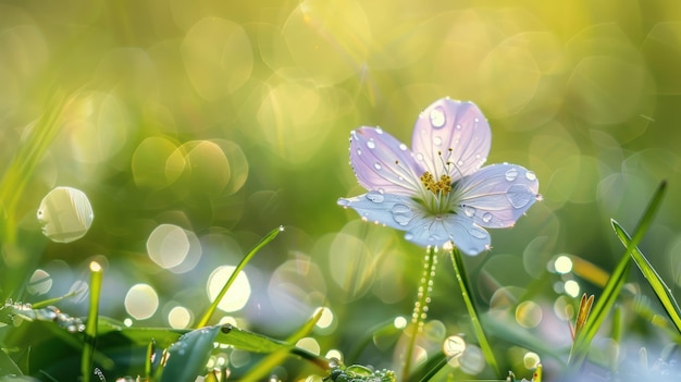
[(85, 236), (95, 214), (85, 193), (71, 187), (49, 192), (38, 207), (42, 234), (57, 243), (71, 243)]

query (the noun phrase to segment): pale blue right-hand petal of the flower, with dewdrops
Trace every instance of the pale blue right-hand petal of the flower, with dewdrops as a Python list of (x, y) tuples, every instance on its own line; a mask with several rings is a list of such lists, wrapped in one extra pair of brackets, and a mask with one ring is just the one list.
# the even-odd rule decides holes
[(481, 226), (512, 226), (538, 198), (534, 172), (517, 164), (487, 165), (454, 185), (462, 214)]

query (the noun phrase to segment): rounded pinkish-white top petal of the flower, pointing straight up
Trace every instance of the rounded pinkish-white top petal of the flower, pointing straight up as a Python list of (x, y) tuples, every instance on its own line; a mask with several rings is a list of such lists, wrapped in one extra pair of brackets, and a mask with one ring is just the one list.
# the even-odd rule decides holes
[(456, 181), (487, 160), (492, 133), (475, 103), (444, 98), (421, 112), (411, 139), (417, 163), (423, 170), (435, 178), (447, 173)]

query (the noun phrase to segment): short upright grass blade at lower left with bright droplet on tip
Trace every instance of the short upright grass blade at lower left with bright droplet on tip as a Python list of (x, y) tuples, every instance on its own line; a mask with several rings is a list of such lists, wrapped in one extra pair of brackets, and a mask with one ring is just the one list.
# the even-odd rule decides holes
[(87, 312), (87, 321), (85, 322), (85, 341), (81, 358), (83, 382), (89, 382), (92, 374), (92, 354), (95, 353), (95, 341), (97, 340), (102, 275), (101, 266), (96, 261), (90, 262), (90, 307)]

